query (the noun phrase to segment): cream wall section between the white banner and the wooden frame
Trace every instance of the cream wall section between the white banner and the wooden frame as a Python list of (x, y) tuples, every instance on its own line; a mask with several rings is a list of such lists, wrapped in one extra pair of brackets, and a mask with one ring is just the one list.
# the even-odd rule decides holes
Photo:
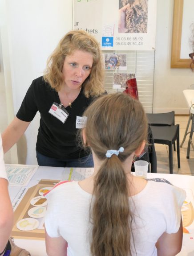
[(170, 68), (173, 8), (174, 0), (157, 0), (154, 112), (188, 114), (182, 91), (194, 83), (194, 73)]

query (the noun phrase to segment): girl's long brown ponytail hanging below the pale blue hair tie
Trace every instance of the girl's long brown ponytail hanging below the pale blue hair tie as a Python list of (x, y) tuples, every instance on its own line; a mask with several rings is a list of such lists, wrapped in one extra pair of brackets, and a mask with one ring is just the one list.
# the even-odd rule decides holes
[(95, 256), (129, 256), (131, 214), (125, 172), (116, 155), (107, 158), (94, 182), (91, 252)]

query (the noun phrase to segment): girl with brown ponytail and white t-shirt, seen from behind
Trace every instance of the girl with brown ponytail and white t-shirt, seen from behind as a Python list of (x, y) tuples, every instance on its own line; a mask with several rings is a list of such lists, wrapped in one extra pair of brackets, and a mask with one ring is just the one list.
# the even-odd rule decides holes
[(82, 138), (92, 150), (94, 172), (46, 195), (48, 255), (176, 255), (182, 247), (185, 192), (130, 172), (147, 137), (141, 103), (122, 93), (105, 95), (83, 116)]

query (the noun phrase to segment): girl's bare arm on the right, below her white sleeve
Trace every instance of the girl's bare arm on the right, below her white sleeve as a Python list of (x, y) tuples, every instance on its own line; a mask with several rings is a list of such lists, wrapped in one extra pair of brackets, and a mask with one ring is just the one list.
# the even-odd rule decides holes
[(156, 243), (158, 256), (175, 256), (182, 248), (182, 219), (177, 233), (164, 232)]

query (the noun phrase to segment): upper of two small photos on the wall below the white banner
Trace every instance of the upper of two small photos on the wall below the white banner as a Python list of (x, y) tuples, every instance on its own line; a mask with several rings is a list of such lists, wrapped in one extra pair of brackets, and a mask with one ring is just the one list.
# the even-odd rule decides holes
[(104, 54), (105, 70), (126, 70), (127, 54)]

